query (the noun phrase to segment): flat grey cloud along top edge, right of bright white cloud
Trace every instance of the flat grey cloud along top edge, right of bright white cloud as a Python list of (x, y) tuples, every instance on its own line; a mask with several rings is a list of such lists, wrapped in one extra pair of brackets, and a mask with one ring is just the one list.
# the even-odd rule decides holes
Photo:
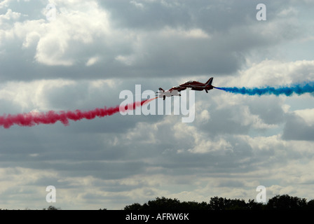
[[(102, 1), (100, 4), (111, 12), (111, 20), (120, 27), (137, 29), (161, 29), (165, 26), (201, 27), (206, 31), (226, 31), (231, 27), (247, 25), (256, 21), (256, 6), (259, 1), (136, 1), (143, 7), (137, 8), (130, 1)], [(280, 3), (264, 1), (276, 10)], [(268, 16), (275, 15), (268, 10)], [(252, 20), (248, 20), (252, 19)]]

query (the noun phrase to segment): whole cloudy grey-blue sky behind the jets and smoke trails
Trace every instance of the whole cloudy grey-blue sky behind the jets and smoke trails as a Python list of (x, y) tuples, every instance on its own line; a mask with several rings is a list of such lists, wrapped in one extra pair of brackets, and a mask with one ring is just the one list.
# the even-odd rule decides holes
[[(2, 0), (0, 115), (116, 106), (135, 85), (313, 81), (313, 10), (310, 0)], [(195, 92), (195, 120), (182, 117), (0, 127), (0, 208), (248, 200), (260, 185), (268, 199), (314, 199), (313, 95)], [(57, 190), (53, 204), (47, 186)]]

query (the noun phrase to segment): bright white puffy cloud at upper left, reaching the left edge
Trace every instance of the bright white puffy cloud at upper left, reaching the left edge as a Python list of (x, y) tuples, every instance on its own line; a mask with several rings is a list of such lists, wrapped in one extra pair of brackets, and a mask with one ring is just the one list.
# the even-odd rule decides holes
[[(86, 48), (93, 47), (96, 38), (109, 39), (108, 13), (96, 1), (55, 2), (56, 19), (15, 22), (11, 28), (1, 29), (1, 39), (17, 36), (24, 48), (36, 44), (34, 58), (47, 65), (73, 65)], [(20, 18), (21, 13), (8, 10), (1, 21)], [(45, 12), (43, 11), (43, 15)], [(110, 42), (110, 41), (109, 41)], [(100, 44), (100, 43), (99, 43)]]

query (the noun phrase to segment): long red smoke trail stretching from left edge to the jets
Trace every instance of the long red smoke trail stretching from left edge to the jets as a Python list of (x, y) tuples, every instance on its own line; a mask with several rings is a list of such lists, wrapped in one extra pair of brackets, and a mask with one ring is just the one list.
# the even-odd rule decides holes
[[(154, 98), (156, 99), (156, 98)], [(92, 111), (48, 111), (44, 112), (29, 112), (29, 113), (19, 113), (16, 115), (8, 114), (7, 116), (0, 116), (0, 126), (4, 128), (10, 128), (12, 125), (20, 126), (34, 126), (39, 124), (50, 125), (57, 121), (60, 121), (63, 125), (69, 125), (69, 120), (81, 120), (83, 118), (91, 120), (96, 117), (111, 116), (119, 111), (125, 112), (128, 110), (134, 110), (138, 106), (142, 106), (145, 103), (151, 102), (153, 99), (145, 99), (142, 102), (134, 102), (125, 106), (115, 106), (115, 107), (104, 107), (103, 109), (97, 108)]]

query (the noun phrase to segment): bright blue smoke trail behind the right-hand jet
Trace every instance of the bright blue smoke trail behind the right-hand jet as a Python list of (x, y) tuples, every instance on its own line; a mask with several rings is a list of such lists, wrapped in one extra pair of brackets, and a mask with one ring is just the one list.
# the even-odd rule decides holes
[(291, 87), (253, 87), (253, 88), (246, 88), (246, 87), (214, 87), (219, 90), (224, 90), (226, 92), (233, 92), (237, 94), (248, 94), (248, 95), (264, 95), (264, 94), (275, 94), (276, 96), (280, 94), (285, 94), (287, 97), (291, 96), (292, 94), (304, 94), (304, 93), (314, 93), (314, 82), (306, 83), (305, 85), (296, 84), (292, 85)]

